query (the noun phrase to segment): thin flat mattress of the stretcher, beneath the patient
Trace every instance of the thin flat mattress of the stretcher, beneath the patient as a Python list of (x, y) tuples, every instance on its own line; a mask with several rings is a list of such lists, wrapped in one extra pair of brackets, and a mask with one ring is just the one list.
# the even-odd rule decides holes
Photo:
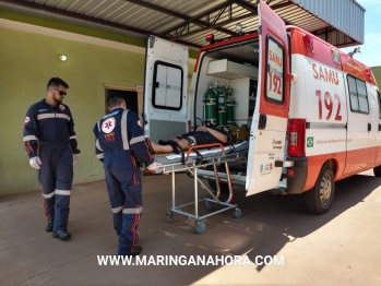
[[(249, 150), (249, 142), (243, 141), (241, 143), (237, 143), (234, 145), (225, 146), (225, 154), (223, 153), (221, 147), (211, 147), (211, 148), (202, 148), (198, 150), (198, 152), (201, 154), (203, 159), (212, 159), (212, 158), (218, 158), (223, 156), (227, 156), (230, 154), (235, 154), (238, 152), (245, 152)], [(190, 152), (190, 155), (188, 157), (188, 151), (184, 151), (184, 160), (187, 162), (194, 162), (197, 159), (200, 159), (200, 155), (195, 152)], [(155, 155), (155, 160), (157, 163), (160, 163), (163, 166), (168, 164), (182, 164), (182, 154), (164, 154), (164, 155)]]

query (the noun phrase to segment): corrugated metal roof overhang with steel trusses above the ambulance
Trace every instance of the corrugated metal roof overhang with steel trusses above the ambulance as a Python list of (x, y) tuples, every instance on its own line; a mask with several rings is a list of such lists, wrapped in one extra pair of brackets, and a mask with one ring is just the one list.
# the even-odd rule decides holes
[[(155, 35), (193, 48), (215, 38), (257, 31), (257, 0), (0, 0), (0, 8), (117, 33)], [(354, 0), (267, 0), (287, 25), (299, 26), (336, 47), (364, 43), (365, 9)], [(181, 11), (181, 12), (179, 12)], [(350, 16), (347, 16), (350, 15)]]

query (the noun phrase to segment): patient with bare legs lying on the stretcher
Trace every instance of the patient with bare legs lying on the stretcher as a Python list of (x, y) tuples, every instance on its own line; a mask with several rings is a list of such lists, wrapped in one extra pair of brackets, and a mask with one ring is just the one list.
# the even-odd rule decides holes
[(158, 144), (146, 139), (151, 154), (176, 153), (189, 150), (194, 145), (204, 145), (222, 143), (224, 145), (235, 144), (237, 142), (236, 133), (215, 126), (200, 126), (193, 132), (184, 133), (171, 140), (159, 140)]

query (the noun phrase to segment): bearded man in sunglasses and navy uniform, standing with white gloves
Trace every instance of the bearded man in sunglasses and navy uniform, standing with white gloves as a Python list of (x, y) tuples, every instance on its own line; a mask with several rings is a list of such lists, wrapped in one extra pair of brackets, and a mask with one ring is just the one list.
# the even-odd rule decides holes
[(67, 229), (73, 165), (78, 163), (74, 122), (70, 109), (62, 104), (69, 85), (52, 78), (47, 85), (45, 99), (32, 105), (26, 112), (24, 145), (29, 165), (38, 170), (45, 199), (45, 214), (53, 238), (68, 239)]

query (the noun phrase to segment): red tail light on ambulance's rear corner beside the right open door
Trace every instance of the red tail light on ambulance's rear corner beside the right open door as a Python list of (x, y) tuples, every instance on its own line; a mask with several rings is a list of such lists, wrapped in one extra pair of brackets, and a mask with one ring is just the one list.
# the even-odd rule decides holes
[(288, 156), (306, 157), (306, 119), (288, 120)]

